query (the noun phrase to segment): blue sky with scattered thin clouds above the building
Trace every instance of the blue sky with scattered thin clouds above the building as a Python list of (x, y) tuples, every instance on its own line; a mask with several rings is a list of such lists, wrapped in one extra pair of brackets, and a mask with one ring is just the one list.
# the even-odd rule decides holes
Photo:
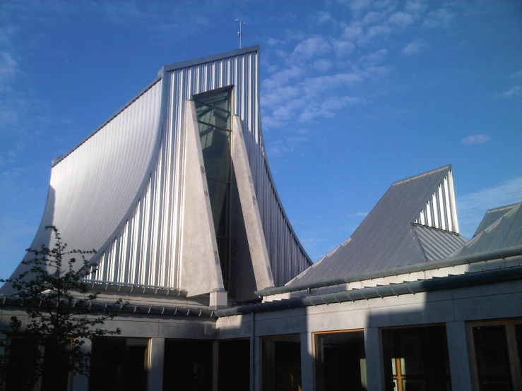
[[(40, 224), (51, 162), (162, 65), (261, 44), (275, 184), (313, 260), (393, 181), (453, 164), (461, 233), (522, 200), (519, 1), (0, 4), (0, 276)], [(66, 239), (66, 238), (65, 238)]]

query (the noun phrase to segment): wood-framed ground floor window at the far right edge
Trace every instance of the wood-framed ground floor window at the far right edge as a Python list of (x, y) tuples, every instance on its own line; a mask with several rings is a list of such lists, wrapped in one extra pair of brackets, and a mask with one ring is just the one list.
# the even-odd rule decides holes
[(522, 319), (468, 325), (475, 390), (522, 390)]

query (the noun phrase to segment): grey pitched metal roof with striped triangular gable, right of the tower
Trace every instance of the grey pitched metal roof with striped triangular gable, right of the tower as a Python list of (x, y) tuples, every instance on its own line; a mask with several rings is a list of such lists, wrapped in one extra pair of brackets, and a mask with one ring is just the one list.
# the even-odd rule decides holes
[[(450, 187), (441, 191), (445, 183)], [(444, 199), (444, 203), (448, 199), (449, 205), (451, 197), (446, 195), (451, 193), (453, 196), (451, 184), (450, 165), (392, 184), (349, 241), (309, 267), (289, 285), (319, 282), (446, 257), (465, 243), (465, 239), (456, 233), (424, 229), (412, 223), (418, 221), (420, 213), (426, 211), (427, 205), (439, 194), (443, 194), (441, 199)], [(439, 205), (439, 201), (435, 201)], [(437, 205), (432, 205), (432, 215), (437, 215)], [(440, 209), (441, 204), (439, 214)], [(452, 212), (454, 210), (448, 211), (446, 215)]]

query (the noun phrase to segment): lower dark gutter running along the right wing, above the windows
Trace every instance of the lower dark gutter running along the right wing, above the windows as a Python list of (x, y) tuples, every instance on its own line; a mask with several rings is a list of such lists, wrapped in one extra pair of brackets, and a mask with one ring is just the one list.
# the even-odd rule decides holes
[(343, 303), (345, 301), (358, 301), (377, 299), (386, 296), (399, 296), (402, 294), (416, 294), (426, 291), (439, 291), (443, 289), (455, 289), (461, 287), (473, 287), (483, 284), (494, 284), (504, 281), (522, 279), (522, 266), (506, 267), (496, 270), (485, 270), (465, 275), (440, 277), (437, 279), (425, 279), (402, 284), (381, 285), (362, 289), (353, 289), (330, 294), (316, 296), (304, 296), (296, 299), (271, 301), (269, 303), (254, 304), (253, 306), (227, 308), (215, 311), (218, 318), (233, 315), (245, 315), (254, 312), (279, 311), (292, 308), (317, 306), (321, 304)]

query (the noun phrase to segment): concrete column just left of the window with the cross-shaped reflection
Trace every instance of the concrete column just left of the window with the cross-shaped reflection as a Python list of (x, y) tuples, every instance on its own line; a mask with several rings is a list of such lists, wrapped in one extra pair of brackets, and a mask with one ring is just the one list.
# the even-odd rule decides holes
[(379, 328), (368, 327), (364, 329), (364, 354), (366, 355), (368, 390), (384, 390), (381, 332)]

